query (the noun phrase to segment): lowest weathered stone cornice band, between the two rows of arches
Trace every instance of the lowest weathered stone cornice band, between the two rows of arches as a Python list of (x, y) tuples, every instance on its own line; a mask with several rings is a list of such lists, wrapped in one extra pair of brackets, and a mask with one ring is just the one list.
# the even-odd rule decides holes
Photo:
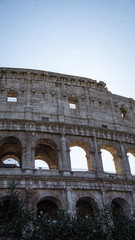
[[(3, 175), (1, 177), (1, 186), (7, 188), (9, 182), (11, 182), (12, 176)], [(54, 181), (55, 180), (55, 181)], [(2, 184), (2, 181), (6, 181), (6, 184)], [(109, 178), (91, 178), (91, 177), (71, 177), (71, 176), (35, 176), (35, 175), (16, 175), (17, 186), (25, 188), (29, 186), (29, 182), (34, 182), (33, 189), (66, 189), (67, 186), (71, 186), (73, 190), (93, 190), (101, 191), (102, 188), (105, 191), (123, 191), (132, 192), (135, 186), (135, 179), (116, 179), (115, 181)], [(42, 184), (41, 184), (42, 182)], [(56, 184), (57, 182), (57, 184)], [(40, 183), (40, 185), (38, 184)], [(61, 184), (63, 183), (63, 184)], [(81, 183), (81, 185), (80, 185)], [(128, 187), (127, 187), (128, 186)]]

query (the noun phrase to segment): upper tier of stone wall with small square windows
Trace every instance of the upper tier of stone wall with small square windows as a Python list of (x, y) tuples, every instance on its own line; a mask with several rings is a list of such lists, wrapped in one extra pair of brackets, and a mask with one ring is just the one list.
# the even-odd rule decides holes
[[(8, 100), (15, 97), (16, 101)], [(46, 71), (0, 68), (0, 118), (85, 125), (135, 133), (135, 101), (102, 81)], [(75, 109), (70, 108), (74, 104)]]

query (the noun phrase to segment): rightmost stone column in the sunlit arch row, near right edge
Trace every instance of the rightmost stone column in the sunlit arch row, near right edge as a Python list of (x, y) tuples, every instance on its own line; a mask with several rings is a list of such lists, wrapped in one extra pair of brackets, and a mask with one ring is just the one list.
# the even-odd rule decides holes
[(130, 172), (128, 156), (126, 154), (124, 144), (122, 142), (120, 142), (120, 148), (121, 148), (120, 162), (121, 162), (122, 174), (126, 176), (130, 176), (131, 172)]

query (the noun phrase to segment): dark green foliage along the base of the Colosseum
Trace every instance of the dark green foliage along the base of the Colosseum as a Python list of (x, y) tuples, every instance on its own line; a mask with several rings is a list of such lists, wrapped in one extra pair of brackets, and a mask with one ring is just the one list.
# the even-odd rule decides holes
[(7, 198), (0, 198), (0, 240), (135, 240), (135, 214), (113, 214), (110, 205), (95, 209), (94, 218), (59, 211), (57, 217), (33, 215), (10, 185)]

